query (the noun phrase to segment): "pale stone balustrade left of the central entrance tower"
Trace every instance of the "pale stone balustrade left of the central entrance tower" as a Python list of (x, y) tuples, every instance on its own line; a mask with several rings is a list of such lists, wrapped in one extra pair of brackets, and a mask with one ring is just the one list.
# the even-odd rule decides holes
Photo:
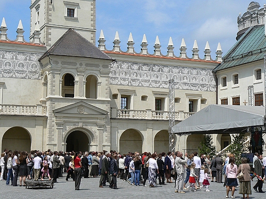
[(1, 115), (46, 115), (46, 106), (37, 105), (0, 105)]

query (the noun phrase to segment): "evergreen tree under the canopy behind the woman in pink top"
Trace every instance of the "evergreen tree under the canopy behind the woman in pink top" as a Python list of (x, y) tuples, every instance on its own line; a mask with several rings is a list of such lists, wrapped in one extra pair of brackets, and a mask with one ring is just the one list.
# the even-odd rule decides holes
[(245, 153), (246, 147), (244, 145), (245, 143), (245, 134), (240, 133), (233, 135), (233, 141), (232, 143), (228, 146), (228, 151), (231, 154), (234, 154), (235, 156), (235, 164), (239, 165), (241, 164), (241, 154)]

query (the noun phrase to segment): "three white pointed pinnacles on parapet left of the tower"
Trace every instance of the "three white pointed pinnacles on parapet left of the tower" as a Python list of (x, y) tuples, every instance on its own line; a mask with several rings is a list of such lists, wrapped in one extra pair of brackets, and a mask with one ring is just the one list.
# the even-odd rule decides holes
[(28, 43), (28, 44), (36, 44), (36, 45), (43, 45), (43, 43), (40, 41), (40, 28), (39, 28), (39, 23), (36, 23), (36, 27), (33, 33), (33, 37), (30, 42), (27, 42), (24, 39), (24, 28), (21, 20), (18, 22), (17, 26), (17, 37), (15, 40), (10, 40), (7, 37), (7, 24), (5, 21), (5, 18), (3, 17), (1, 27), (0, 27), (0, 41), (12, 41), (12, 42), (18, 42), (18, 43)]

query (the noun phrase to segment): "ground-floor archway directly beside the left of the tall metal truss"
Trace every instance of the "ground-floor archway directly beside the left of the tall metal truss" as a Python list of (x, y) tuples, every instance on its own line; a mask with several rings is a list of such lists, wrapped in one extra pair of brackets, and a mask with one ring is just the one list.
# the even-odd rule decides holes
[(169, 133), (166, 130), (159, 131), (154, 137), (154, 152), (160, 154), (169, 151)]

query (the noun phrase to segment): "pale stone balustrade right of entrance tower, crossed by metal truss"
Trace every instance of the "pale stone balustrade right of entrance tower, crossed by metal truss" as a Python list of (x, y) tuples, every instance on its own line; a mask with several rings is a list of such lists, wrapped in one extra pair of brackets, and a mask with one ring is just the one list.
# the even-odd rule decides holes
[[(149, 120), (169, 120), (168, 111), (152, 111), (151, 109), (146, 110), (130, 110), (130, 109), (117, 109), (111, 108), (112, 119), (149, 119)], [(174, 112), (175, 120), (184, 120), (194, 113), (178, 111)]]

